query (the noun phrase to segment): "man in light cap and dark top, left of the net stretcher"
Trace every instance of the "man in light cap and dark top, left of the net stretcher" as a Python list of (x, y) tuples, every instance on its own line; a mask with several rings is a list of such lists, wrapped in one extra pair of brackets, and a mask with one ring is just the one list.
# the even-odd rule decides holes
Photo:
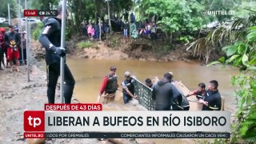
[(125, 80), (122, 82), (122, 98), (123, 102), (126, 104), (128, 103), (132, 98), (138, 99), (134, 95), (134, 78), (131, 78), (130, 72), (125, 72)]

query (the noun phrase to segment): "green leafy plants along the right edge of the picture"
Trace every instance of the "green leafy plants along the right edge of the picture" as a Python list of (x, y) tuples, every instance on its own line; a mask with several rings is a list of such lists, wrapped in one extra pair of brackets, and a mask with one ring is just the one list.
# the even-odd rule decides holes
[(238, 99), (231, 142), (256, 142), (256, 26), (248, 29), (245, 41), (235, 42), (222, 50), (227, 58), (219, 58), (210, 65), (232, 64), (241, 70), (241, 74), (231, 79)]

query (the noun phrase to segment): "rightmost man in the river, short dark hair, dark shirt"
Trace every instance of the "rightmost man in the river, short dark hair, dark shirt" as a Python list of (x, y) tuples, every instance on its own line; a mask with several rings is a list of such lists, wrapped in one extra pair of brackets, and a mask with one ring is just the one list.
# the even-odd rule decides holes
[(202, 110), (221, 110), (222, 98), (218, 92), (218, 81), (212, 80), (208, 86), (209, 90), (206, 90), (205, 99), (200, 99), (202, 103)]

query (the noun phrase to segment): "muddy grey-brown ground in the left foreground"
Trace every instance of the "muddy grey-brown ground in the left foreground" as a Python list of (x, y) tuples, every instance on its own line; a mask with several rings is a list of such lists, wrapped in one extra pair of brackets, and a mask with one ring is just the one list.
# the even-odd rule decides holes
[[(46, 97), (46, 73), (32, 66), (27, 82), (26, 66), (20, 72), (0, 71), (0, 143), (27, 143), (23, 138), (23, 112), (43, 110)], [(56, 94), (58, 95), (58, 94)], [(56, 101), (60, 102), (57, 96)], [(46, 143), (98, 143), (97, 139), (52, 139)]]

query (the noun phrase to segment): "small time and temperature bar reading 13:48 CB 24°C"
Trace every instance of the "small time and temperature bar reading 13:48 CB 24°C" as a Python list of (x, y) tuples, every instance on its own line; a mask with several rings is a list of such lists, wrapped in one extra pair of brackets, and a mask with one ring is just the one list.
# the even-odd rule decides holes
[(24, 17), (54, 17), (58, 10), (24, 10)]

